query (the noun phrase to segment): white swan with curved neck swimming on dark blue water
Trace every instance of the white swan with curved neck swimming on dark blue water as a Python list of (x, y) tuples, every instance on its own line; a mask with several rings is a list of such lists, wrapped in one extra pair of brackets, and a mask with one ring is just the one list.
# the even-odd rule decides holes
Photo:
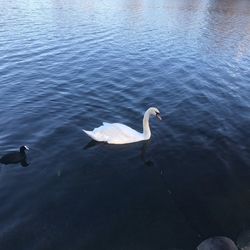
[(95, 141), (107, 142), (109, 144), (126, 144), (138, 141), (148, 140), (151, 137), (149, 127), (150, 116), (156, 116), (161, 120), (160, 111), (157, 108), (149, 108), (143, 117), (143, 133), (121, 124), (121, 123), (107, 123), (95, 128), (93, 131), (83, 131)]

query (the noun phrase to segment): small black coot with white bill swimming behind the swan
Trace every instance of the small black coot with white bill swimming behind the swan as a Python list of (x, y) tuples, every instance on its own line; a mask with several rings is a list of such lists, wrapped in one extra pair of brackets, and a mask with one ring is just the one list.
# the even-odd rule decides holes
[(29, 164), (26, 162), (26, 153), (25, 151), (29, 150), (27, 146), (21, 146), (19, 152), (13, 151), (4, 155), (0, 158), (0, 163), (3, 164), (14, 164), (21, 163), (22, 166), (28, 166)]

